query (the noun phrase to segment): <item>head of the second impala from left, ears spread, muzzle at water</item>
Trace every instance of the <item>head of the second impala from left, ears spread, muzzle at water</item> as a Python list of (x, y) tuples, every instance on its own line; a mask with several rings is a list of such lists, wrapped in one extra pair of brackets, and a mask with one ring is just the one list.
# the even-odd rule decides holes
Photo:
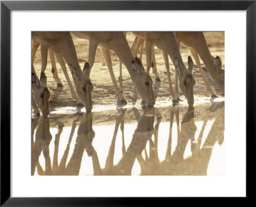
[[(74, 79), (76, 79), (76, 92), (78, 97), (80, 98), (81, 102), (83, 103), (86, 112), (92, 111), (92, 91), (93, 91), (93, 84), (90, 81), (89, 74), (90, 74), (90, 66), (86, 62), (84, 64), (83, 73), (77, 75), (75, 68), (70, 64), (70, 71)], [(79, 69), (80, 70), (80, 69)]]

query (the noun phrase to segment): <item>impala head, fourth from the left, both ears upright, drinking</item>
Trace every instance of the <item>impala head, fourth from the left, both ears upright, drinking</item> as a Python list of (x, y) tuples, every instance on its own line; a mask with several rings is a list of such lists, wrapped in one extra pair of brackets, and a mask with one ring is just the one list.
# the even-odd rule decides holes
[(195, 79), (193, 77), (193, 61), (190, 56), (188, 56), (188, 70), (181, 71), (180, 63), (177, 58), (175, 58), (175, 68), (179, 74), (180, 89), (183, 95), (188, 100), (188, 105), (194, 104), (194, 93), (193, 87), (195, 85)]

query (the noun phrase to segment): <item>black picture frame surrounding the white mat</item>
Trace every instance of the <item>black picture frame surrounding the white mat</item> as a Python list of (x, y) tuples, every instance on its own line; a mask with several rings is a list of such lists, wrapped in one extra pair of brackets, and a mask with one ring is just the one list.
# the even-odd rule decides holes
[[(256, 2), (253, 1), (1, 1), (1, 206), (149, 206), (168, 198), (10, 197), (10, 12), (12, 10), (246, 10), (246, 198), (255, 183)], [(241, 68), (242, 70), (242, 68)], [(238, 102), (239, 95), (234, 97)], [(239, 104), (237, 104), (239, 107)], [(135, 200), (134, 200), (135, 199)], [(169, 201), (166, 201), (169, 202)]]

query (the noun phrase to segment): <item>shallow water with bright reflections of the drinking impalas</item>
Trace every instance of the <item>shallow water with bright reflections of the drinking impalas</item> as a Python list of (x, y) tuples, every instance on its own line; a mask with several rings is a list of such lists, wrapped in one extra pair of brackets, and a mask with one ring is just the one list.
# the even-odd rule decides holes
[[(220, 100), (221, 101), (221, 100)], [(224, 103), (32, 118), (33, 175), (225, 175)]]

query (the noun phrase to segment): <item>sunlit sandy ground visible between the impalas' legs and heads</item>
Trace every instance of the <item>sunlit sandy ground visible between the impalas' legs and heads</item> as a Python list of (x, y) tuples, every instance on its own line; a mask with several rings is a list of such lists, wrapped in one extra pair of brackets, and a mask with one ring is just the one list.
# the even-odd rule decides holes
[[(222, 61), (222, 67), (225, 68), (224, 33), (223, 32), (205, 32), (204, 34), (205, 34), (205, 38), (207, 40), (212, 56), (214, 57), (220, 56)], [(88, 61), (88, 43), (89, 42), (88, 40), (79, 39), (76, 36), (72, 36), (72, 37), (74, 40), (74, 45), (76, 47), (79, 64), (81, 68), (83, 68), (85, 61)], [(127, 33), (127, 41), (131, 46), (132, 42), (134, 41), (134, 35), (132, 33)], [(154, 74), (152, 73), (152, 69), (150, 69), (150, 76), (152, 77), (152, 80), (154, 82), (153, 86), (154, 86), (154, 94), (156, 96), (156, 107), (161, 105), (166, 105), (166, 104), (170, 105), (172, 104), (172, 99), (168, 91), (168, 79), (166, 75), (166, 69), (164, 66), (164, 59), (163, 59), (161, 50), (156, 48), (155, 52), (156, 52), (157, 70), (159, 72), (160, 79), (161, 79), (161, 82), (157, 82), (155, 80)], [(187, 62), (188, 56), (191, 56), (191, 53), (188, 47), (181, 45), (180, 53), (182, 55), (182, 59), (184, 60), (184, 63), (186, 64), (186, 66), (188, 66), (188, 63), (186, 62)], [(112, 58), (115, 77), (116, 77), (116, 80), (118, 80), (119, 61), (118, 61), (118, 57), (113, 51), (111, 51), (111, 58)], [(170, 61), (170, 69), (172, 73), (172, 81), (174, 84), (175, 68), (172, 64), (172, 61), (170, 60), (170, 57), (169, 57), (169, 61)], [(202, 79), (202, 76), (200, 75), (200, 72), (197, 66), (195, 65), (195, 60), (193, 59), (193, 61), (194, 61), (193, 74), (196, 79), (196, 84), (194, 87), (195, 104), (199, 102), (209, 102), (211, 98), (211, 94), (205, 88), (205, 84)], [(52, 112), (58, 113), (58, 111), (59, 112), (61, 111), (61, 113), (67, 114), (69, 112), (74, 112), (74, 107), (76, 107), (76, 101), (72, 99), (67, 81), (63, 75), (63, 72), (61, 71), (58, 61), (56, 62), (57, 62), (58, 75), (63, 84), (63, 88), (57, 87), (56, 81), (52, 77), (51, 62), (48, 57), (48, 64), (47, 64), (47, 69), (45, 70), (45, 74), (47, 76), (47, 86), (49, 87), (49, 90), (51, 91), (51, 95), (52, 95), (50, 100), (50, 111), (51, 113)], [(146, 66), (145, 49), (143, 50), (142, 63), (144, 66)], [(204, 63), (202, 61), (201, 63), (204, 66)], [(39, 77), (40, 68), (41, 68), (40, 48), (38, 49), (38, 52), (36, 52), (34, 66), (35, 66), (36, 73)], [(136, 93), (136, 90), (134, 90), (134, 86), (132, 84), (131, 78), (124, 65), (123, 65), (123, 68), (124, 68), (123, 70), (124, 97), (125, 97), (125, 100), (128, 102), (127, 106), (129, 105), (138, 106), (140, 105), (140, 102), (141, 102), (140, 96), (138, 96)], [(71, 78), (72, 76), (69, 70), (68, 70), (68, 73)], [(216, 91), (216, 94), (222, 97), (218, 88), (216, 88), (216, 85), (211, 80), (211, 77), (209, 76), (209, 74), (205, 72), (205, 75), (207, 76), (212, 88)], [(104, 57), (101, 54), (100, 48), (98, 48), (96, 52), (95, 63), (93, 65), (92, 72), (90, 74), (90, 79), (94, 86), (93, 93), (92, 93), (93, 111), (95, 111), (97, 107), (102, 107), (102, 105), (115, 107), (117, 102), (117, 96), (115, 95), (113, 83), (111, 81), (108, 68), (104, 61)], [(181, 91), (180, 91), (180, 95), (181, 95)], [(186, 105), (187, 104), (186, 98), (182, 95), (180, 96), (180, 98), (184, 100), (184, 102), (180, 102), (180, 105), (183, 105), (183, 104)]]

